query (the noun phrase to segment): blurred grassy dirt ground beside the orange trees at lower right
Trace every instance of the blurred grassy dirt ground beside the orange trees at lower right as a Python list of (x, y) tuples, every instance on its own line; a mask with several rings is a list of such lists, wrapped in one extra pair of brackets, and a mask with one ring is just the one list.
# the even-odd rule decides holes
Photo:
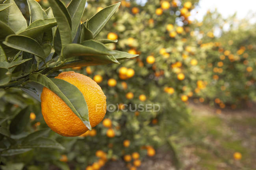
[[(189, 104), (190, 122), (174, 137), (173, 145), (182, 170), (255, 170), (256, 107), (224, 109), (203, 104)], [(233, 153), (240, 152), (241, 160)], [(109, 162), (103, 170), (127, 170), (122, 161)], [(137, 170), (175, 170), (170, 151), (165, 146), (152, 158), (145, 158)]]

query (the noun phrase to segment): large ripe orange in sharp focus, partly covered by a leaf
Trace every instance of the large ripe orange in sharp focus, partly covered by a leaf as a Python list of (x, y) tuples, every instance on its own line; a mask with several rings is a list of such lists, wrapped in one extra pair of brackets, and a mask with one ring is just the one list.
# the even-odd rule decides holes
[[(83, 94), (89, 111), (91, 127), (101, 122), (106, 114), (106, 96), (93, 79), (75, 72), (62, 72), (57, 77), (75, 85)], [(100, 105), (96, 109), (96, 104)], [(88, 129), (67, 104), (46, 87), (41, 94), (42, 114), (46, 124), (56, 133), (74, 137), (85, 133)]]

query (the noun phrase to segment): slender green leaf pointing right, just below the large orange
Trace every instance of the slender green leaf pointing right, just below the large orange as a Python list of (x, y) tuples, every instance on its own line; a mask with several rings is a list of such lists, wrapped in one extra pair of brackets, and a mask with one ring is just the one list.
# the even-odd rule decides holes
[(24, 142), (22, 143), (20, 148), (52, 148), (61, 150), (65, 149), (61, 144), (59, 144), (55, 140), (45, 137), (38, 137), (37, 139)]

